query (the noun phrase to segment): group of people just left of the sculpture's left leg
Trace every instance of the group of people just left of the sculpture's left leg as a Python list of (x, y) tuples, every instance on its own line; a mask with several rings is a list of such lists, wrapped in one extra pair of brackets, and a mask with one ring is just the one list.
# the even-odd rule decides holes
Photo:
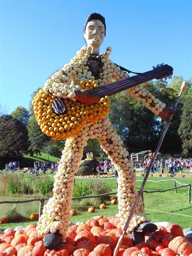
[(34, 170), (36, 173), (36, 177), (39, 176), (39, 170), (42, 170), (43, 173), (45, 174), (46, 169), (51, 169), (51, 173), (54, 173), (54, 171), (56, 172), (58, 170), (58, 165), (59, 165), (59, 160), (55, 161), (55, 162), (40, 162), (40, 161), (36, 161), (34, 162)]

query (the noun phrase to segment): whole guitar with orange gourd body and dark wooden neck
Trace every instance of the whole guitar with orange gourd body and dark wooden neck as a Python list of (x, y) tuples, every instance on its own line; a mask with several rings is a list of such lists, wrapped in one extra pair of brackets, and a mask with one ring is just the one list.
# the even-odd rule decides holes
[[(47, 95), (40, 90), (32, 102), (34, 113), (44, 134), (51, 136), (52, 139), (68, 139), (81, 130), (83, 124), (95, 122), (109, 113), (109, 96), (152, 79), (162, 79), (170, 75), (173, 75), (173, 68), (166, 64), (139, 75), (94, 88), (91, 94), (88, 90), (86, 96), (100, 98), (92, 105), (79, 100), (72, 102), (70, 99), (56, 98), (53, 94)], [(92, 81), (89, 83), (91, 84)], [(78, 99), (81, 98), (78, 97), (81, 93), (81, 91), (76, 93)]]

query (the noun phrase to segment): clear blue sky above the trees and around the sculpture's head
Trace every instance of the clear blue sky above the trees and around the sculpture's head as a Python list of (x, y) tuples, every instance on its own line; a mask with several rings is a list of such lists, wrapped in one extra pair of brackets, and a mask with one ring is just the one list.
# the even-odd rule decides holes
[(30, 94), (85, 45), (93, 12), (106, 19), (100, 51), (135, 72), (164, 62), (192, 77), (191, 0), (0, 0), (0, 104), (28, 108)]

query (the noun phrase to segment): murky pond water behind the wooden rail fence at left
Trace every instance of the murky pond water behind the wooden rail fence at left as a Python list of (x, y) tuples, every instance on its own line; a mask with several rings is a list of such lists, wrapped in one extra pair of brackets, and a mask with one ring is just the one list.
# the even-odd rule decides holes
[[(37, 198), (37, 196), (34, 195), (14, 195), (14, 196), (2, 196), (0, 195), (0, 201), (15, 201), (15, 200), (27, 200), (31, 198)], [(48, 198), (49, 196), (38, 196), (38, 198)], [(45, 201), (45, 204), (47, 201)], [(5, 217), (6, 213), (8, 211), (11, 211), (11, 209), (14, 207), (17, 211), (17, 213), (21, 214), (22, 216), (29, 217), (32, 213), (38, 213), (39, 212), (39, 204), (40, 201), (34, 201), (30, 203), (18, 203), (18, 204), (0, 204), (0, 218)], [(45, 205), (44, 204), (44, 205)]]

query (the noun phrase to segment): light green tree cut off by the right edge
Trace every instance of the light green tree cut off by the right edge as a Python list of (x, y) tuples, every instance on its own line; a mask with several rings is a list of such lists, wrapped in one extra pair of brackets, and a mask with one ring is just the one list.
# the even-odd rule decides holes
[(183, 155), (192, 154), (192, 98), (186, 102), (182, 108), (181, 124), (179, 126), (179, 135), (182, 141)]

